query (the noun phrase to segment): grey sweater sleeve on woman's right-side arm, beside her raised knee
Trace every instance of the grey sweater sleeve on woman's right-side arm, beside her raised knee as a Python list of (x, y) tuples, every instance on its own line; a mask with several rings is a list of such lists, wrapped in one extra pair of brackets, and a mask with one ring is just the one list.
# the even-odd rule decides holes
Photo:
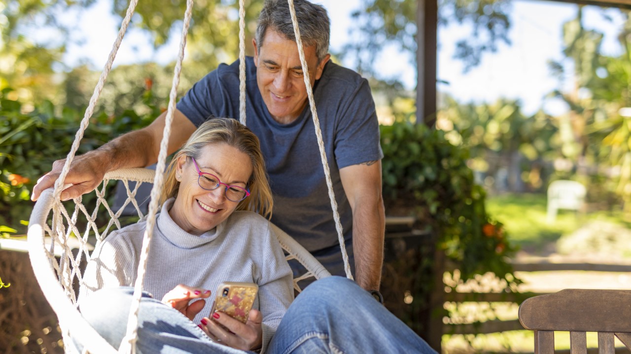
[(259, 302), (263, 315), (262, 350), (265, 353), (276, 328), (293, 301), (293, 274), (285, 260), (283, 249), (278, 243), (276, 234), (266, 220), (265, 236), (262, 252), (259, 253)]

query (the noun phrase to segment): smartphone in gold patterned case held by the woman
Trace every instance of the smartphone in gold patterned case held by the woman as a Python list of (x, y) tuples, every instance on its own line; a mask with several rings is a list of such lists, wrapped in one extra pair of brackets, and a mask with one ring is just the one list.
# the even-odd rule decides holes
[(215, 312), (225, 312), (242, 323), (246, 323), (258, 291), (259, 286), (255, 283), (221, 283), (217, 288), (210, 316), (213, 316)]

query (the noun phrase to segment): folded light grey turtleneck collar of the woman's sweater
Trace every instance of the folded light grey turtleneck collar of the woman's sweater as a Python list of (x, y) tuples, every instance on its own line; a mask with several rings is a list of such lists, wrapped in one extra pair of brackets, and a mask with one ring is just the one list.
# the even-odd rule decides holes
[(189, 234), (182, 230), (180, 226), (175, 224), (175, 221), (168, 214), (168, 210), (175, 202), (175, 198), (170, 198), (162, 205), (160, 214), (156, 215), (156, 227), (160, 236), (165, 237), (170, 243), (174, 244), (178, 248), (198, 248), (211, 241), (214, 241), (219, 235), (223, 234), (226, 221), (224, 220), (218, 226), (213, 229), (204, 232), (197, 236)]

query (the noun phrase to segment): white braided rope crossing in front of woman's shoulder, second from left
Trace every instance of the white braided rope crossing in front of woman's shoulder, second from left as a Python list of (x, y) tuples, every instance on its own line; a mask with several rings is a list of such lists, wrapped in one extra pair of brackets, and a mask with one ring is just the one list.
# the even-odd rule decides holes
[(156, 166), (155, 178), (153, 180), (153, 188), (151, 188), (151, 202), (149, 204), (149, 212), (147, 215), (147, 224), (144, 231), (143, 248), (140, 254), (140, 260), (138, 265), (138, 277), (134, 284), (134, 300), (129, 310), (129, 322), (127, 323), (127, 334), (121, 343), (121, 347), (126, 345), (126, 342), (131, 346), (131, 353), (136, 353), (136, 340), (138, 332), (138, 310), (140, 307), (140, 299), (143, 291), (144, 274), (146, 273), (147, 256), (149, 253), (149, 244), (151, 237), (153, 236), (153, 228), (155, 226), (156, 212), (158, 211), (158, 202), (160, 200), (160, 193), (164, 186), (164, 170), (168, 153), (168, 138), (171, 134), (171, 123), (173, 122), (173, 114), (175, 111), (175, 99), (177, 97), (177, 86), (180, 84), (180, 74), (182, 72), (182, 60), (184, 60), (184, 48), (186, 47), (186, 36), (189, 31), (189, 25), (191, 23), (193, 1), (186, 1), (186, 13), (184, 14), (184, 25), (182, 26), (182, 37), (180, 38), (180, 50), (177, 55), (177, 62), (175, 63), (173, 83), (171, 86), (171, 92), (168, 98), (168, 110), (167, 117), (162, 133), (162, 142), (160, 142), (160, 154), (158, 155), (158, 164)]

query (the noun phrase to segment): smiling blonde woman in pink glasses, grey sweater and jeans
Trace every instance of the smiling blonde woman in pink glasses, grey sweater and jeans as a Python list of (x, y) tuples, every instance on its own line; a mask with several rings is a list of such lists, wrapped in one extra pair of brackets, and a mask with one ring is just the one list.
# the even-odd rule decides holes
[[(346, 278), (318, 280), (292, 303), (291, 270), (261, 216), (272, 207), (264, 171), (256, 136), (232, 119), (203, 123), (175, 154), (148, 256), (144, 289), (153, 297), (141, 299), (137, 351), (435, 353)], [(145, 226), (108, 236), (84, 275), (81, 314), (116, 348), (126, 334), (128, 286), (136, 280)], [(204, 299), (227, 281), (259, 285), (245, 324), (223, 313), (205, 317), (211, 301)]]

